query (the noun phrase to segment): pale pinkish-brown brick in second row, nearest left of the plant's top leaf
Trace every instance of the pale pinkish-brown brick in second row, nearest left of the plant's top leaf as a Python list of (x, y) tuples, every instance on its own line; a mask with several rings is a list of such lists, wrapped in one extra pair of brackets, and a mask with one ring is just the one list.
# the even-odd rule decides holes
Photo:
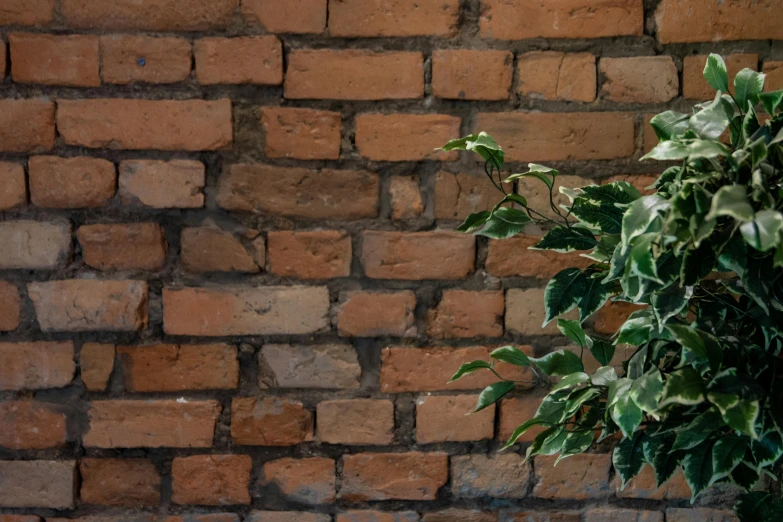
[(680, 92), (671, 56), (601, 58), (601, 97), (622, 103), (664, 103)]

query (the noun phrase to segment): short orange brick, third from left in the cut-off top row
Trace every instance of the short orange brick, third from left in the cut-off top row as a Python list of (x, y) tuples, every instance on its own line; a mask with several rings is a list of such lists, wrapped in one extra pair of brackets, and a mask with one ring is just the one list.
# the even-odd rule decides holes
[(242, 15), (250, 25), (263, 25), (270, 33), (322, 33), (326, 28), (327, 0), (243, 0)]

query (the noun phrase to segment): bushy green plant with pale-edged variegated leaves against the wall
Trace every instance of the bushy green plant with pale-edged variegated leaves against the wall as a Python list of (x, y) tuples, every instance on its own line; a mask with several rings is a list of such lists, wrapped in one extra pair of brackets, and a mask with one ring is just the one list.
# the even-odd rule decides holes
[[(528, 358), (506, 346), (453, 379), (493, 370), (495, 361), (560, 377), (506, 447), (542, 426), (527, 457), (559, 453), (559, 461), (588, 450), (598, 433), (599, 441), (619, 433), (613, 462), (623, 486), (646, 464), (659, 486), (681, 466), (694, 498), (715, 483), (751, 491), (765, 475), (777, 479), (783, 456), (783, 91), (763, 93), (764, 75), (745, 69), (729, 94), (717, 55), (704, 76), (718, 91), (713, 101), (652, 119), (660, 143), (642, 159), (677, 162), (652, 195), (626, 182), (561, 189), (570, 204), (559, 208), (556, 170), (530, 164), (504, 180), (503, 151), (484, 133), (443, 147), (478, 153), (504, 192), (459, 230), (503, 239), (529, 223), (545, 225), (532, 248), (580, 251), (593, 261), (549, 281), (544, 324), (557, 320), (583, 356), (589, 351), (602, 365), (588, 375), (571, 351)], [(546, 213), (523, 194), (506, 193), (504, 184), (522, 178), (547, 186)], [(613, 339), (588, 335), (582, 323), (608, 299), (645, 306)], [(560, 318), (574, 308), (579, 320)], [(610, 365), (618, 344), (636, 347), (620, 374)], [(506, 380), (487, 387), (476, 411), (513, 388)], [(783, 520), (774, 489), (744, 495), (740, 519)]]

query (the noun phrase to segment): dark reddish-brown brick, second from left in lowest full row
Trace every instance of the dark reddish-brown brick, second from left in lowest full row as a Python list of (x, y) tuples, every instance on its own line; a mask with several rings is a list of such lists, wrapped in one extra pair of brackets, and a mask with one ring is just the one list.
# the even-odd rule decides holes
[(82, 459), (81, 501), (105, 506), (157, 506), (160, 475), (148, 459)]

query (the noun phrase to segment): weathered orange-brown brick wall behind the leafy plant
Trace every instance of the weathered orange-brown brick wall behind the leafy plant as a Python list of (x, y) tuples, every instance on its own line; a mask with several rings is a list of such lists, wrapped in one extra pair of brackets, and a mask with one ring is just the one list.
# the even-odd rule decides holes
[(776, 4), (0, 1), (0, 522), (732, 520), (497, 454), (539, 390), (464, 416), (577, 260), (453, 232), (496, 195), (433, 149), (646, 186), (707, 53), (783, 88)]

